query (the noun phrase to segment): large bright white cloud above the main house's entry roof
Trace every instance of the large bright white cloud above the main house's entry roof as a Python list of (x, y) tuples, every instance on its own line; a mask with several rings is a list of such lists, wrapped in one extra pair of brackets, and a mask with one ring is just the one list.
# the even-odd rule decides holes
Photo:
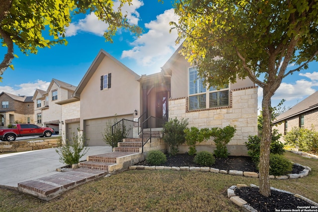
[(145, 27), (149, 31), (140, 38), (136, 38), (131, 43), (133, 48), (123, 51), (121, 58), (134, 59), (138, 65), (143, 67), (162, 66), (178, 48), (175, 45), (176, 30), (169, 33), (170, 21), (178, 21), (173, 9), (165, 10), (163, 14), (157, 16), (156, 20), (146, 23)]

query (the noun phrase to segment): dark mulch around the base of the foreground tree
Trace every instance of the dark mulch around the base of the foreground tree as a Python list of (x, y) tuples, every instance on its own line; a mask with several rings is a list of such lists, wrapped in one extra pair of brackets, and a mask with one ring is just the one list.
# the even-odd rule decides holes
[[(235, 190), (235, 194), (245, 200), (251, 207), (258, 212), (275, 212), (275, 211), (297, 211), (299, 207), (309, 207), (313, 205), (306, 201), (294, 197), (294, 195), (271, 191), (270, 197), (260, 195), (258, 188), (244, 187)], [(304, 208), (305, 209), (305, 208)], [(301, 210), (299, 210), (301, 211)]]

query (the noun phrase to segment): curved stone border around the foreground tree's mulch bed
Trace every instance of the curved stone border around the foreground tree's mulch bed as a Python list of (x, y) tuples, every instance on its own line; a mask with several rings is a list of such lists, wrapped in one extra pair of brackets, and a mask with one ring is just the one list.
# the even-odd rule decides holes
[[(236, 196), (235, 194), (235, 189), (236, 188), (242, 188), (242, 187), (247, 187), (247, 185), (245, 184), (237, 184), (236, 186), (231, 186), (230, 188), (228, 188), (228, 198), (230, 198), (231, 202), (233, 202), (234, 204), (236, 204), (237, 206), (241, 207), (243, 209), (244, 212), (257, 212), (257, 210), (255, 210), (253, 207), (251, 207), (245, 200), (239, 198), (239, 196)], [(249, 187), (251, 188), (259, 188), (259, 186), (256, 186), (254, 184), (250, 184)], [(284, 191), (284, 190), (280, 190), (280, 189), (276, 189), (273, 187), (270, 187), (271, 190), (274, 191), (278, 191), (278, 192), (282, 192), (282, 193), (287, 193), (287, 194), (291, 194), (294, 195), (297, 198), (300, 198), (304, 201), (306, 201), (309, 204), (312, 204), (313, 206), (318, 206), (318, 203), (307, 199), (306, 197), (303, 197), (299, 194), (294, 194), (288, 191)]]

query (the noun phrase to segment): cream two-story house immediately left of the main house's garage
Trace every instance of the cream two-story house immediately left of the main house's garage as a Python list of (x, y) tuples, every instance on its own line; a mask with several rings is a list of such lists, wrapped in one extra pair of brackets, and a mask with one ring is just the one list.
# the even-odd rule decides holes
[(56, 103), (70, 99), (75, 89), (76, 86), (57, 79), (52, 79), (46, 91), (36, 89), (32, 98), (35, 124), (62, 134), (62, 105)]

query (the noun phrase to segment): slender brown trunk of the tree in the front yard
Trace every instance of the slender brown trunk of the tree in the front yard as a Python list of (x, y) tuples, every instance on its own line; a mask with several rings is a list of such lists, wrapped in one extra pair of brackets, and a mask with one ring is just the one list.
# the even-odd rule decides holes
[(266, 88), (263, 89), (262, 113), (263, 129), (259, 156), (259, 192), (265, 197), (270, 196), (269, 184), (269, 153), (271, 143), (271, 96)]

